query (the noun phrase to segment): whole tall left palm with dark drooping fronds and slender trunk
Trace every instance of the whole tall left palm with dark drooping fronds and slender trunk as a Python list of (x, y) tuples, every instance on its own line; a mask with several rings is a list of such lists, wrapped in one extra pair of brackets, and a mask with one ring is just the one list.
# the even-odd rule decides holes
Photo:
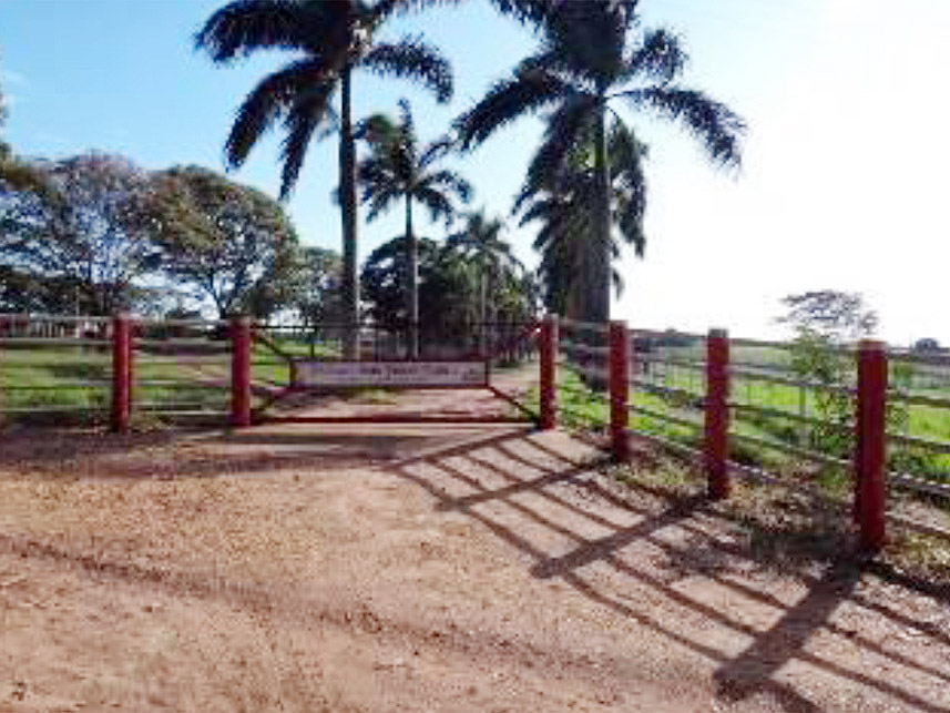
[[(449, 63), (418, 39), (377, 41), (377, 30), (399, 11), (436, 0), (233, 0), (208, 18), (195, 37), (214, 62), (282, 49), (297, 53), (245, 98), (225, 144), (227, 163), (241, 166), (276, 123), (282, 146), (280, 197), (297, 182), (310, 140), (339, 131), (343, 297), (347, 320), (359, 320), (357, 273), (356, 149), (351, 119), (354, 71), (415, 80), (440, 102), (452, 94)], [(511, 11), (517, 10), (512, 8)], [(334, 109), (339, 93), (338, 110)], [(356, 329), (347, 340), (356, 355)]]

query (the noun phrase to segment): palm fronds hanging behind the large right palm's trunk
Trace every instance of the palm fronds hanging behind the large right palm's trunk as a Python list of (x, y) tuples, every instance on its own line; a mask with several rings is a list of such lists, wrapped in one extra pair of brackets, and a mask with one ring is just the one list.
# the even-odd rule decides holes
[[(643, 256), (646, 237), (643, 216), (646, 207), (646, 179), (643, 159), (647, 147), (624, 124), (614, 124), (607, 139), (607, 171), (610, 177), (612, 223), (617, 231), (611, 235), (611, 257), (620, 257), (620, 237)], [(544, 288), (545, 307), (573, 318), (583, 318), (583, 275), (594, 262), (592, 247), (593, 206), (596, 205), (596, 174), (593, 165), (593, 137), (575, 146), (566, 164), (554, 175), (548, 175), (532, 163), (513, 213), (521, 213), (520, 225), (540, 222), (534, 248), (541, 253), (538, 273)], [(623, 278), (611, 269), (611, 283), (616, 294), (623, 292)]]

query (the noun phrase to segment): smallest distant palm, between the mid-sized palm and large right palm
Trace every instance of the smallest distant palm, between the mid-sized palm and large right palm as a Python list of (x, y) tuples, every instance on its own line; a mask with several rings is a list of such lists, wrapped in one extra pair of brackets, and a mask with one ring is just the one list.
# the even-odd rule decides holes
[(496, 316), (492, 306), (494, 287), (505, 275), (517, 276), (524, 267), (511, 252), (511, 245), (502, 237), (504, 224), (498, 218), (487, 218), (484, 210), (470, 213), (464, 228), (446, 241), (446, 249), (467, 257), (478, 271), (479, 345), (481, 354), (487, 353), (489, 323)]

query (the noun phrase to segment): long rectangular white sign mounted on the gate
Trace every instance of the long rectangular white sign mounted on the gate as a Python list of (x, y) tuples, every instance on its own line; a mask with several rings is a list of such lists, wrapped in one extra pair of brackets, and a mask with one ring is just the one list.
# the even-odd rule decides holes
[(479, 387), (488, 386), (487, 361), (294, 361), (294, 385)]

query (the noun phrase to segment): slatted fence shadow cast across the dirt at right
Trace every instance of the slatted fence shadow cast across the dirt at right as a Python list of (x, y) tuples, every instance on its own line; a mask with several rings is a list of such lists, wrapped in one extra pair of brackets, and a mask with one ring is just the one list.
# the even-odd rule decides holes
[[(885, 585), (916, 590), (950, 603), (941, 588), (901, 578), (882, 566), (861, 567), (847, 554), (847, 543), (831, 543), (837, 559), (798, 567), (806, 558), (801, 532), (749, 532), (703, 495), (682, 495), (662, 488), (619, 483), (585, 464), (572, 461), (550, 444), (532, 436), (493, 437), (464, 448), (412, 459), (399, 465), (399, 477), (428, 491), (439, 510), (463, 513), (533, 560), (532, 576), (558, 578), (579, 593), (623, 618), (666, 636), (716, 662), (716, 693), (724, 703), (756, 695), (770, 699), (790, 712), (818, 711), (806, 692), (784, 675), (789, 666), (818, 669), (821, 678), (847, 689), (875, 691), (890, 704), (917, 711), (948, 711), (928, 695), (950, 684), (950, 632), (940, 624), (918, 621), (900, 611), (899, 603), (881, 601), (865, 591), (866, 576)], [(549, 506), (565, 517), (552, 518)], [(543, 512), (542, 512), (543, 510)], [(633, 526), (620, 521), (637, 517)], [(718, 531), (745, 531), (746, 539), (723, 539)], [(594, 534), (607, 530), (607, 534)], [(540, 532), (540, 534), (539, 534)], [(672, 533), (678, 537), (672, 537)], [(785, 540), (780, 542), (780, 540)], [(807, 538), (806, 538), (807, 539)], [(767, 540), (770, 547), (750, 547)], [(555, 553), (551, 542), (566, 552)], [(804, 543), (804, 544), (803, 544)], [(650, 548), (665, 556), (665, 567), (632, 550)], [(788, 557), (793, 561), (786, 560)], [(796, 558), (799, 558), (797, 560)], [(664, 571), (664, 569), (666, 571)], [(804, 585), (797, 601), (783, 601), (749, 571), (788, 576)], [(605, 574), (606, 571), (606, 574)], [(684, 585), (693, 583), (693, 587)], [(767, 625), (753, 625), (746, 615), (709, 603), (707, 587), (725, 591), (726, 599), (742, 598), (763, 611)], [(661, 594), (660, 613), (639, 607), (631, 589)], [(655, 598), (654, 598), (655, 599)], [(848, 615), (842, 618), (841, 613)], [(862, 633), (862, 622), (881, 620), (876, 630), (910, 630), (920, 645), (912, 653), (887, 645), (886, 640)], [(681, 625), (682, 619), (701, 619), (701, 628)], [(847, 621), (848, 623), (841, 623)], [(854, 625), (852, 625), (854, 624)], [(706, 628), (737, 632), (748, 640), (738, 653), (715, 645), (717, 638), (703, 635)], [(831, 643), (828, 643), (832, 640)], [(836, 648), (852, 646), (840, 661)], [(940, 653), (934, 656), (937, 651)], [(887, 675), (877, 674), (887, 671)]]

